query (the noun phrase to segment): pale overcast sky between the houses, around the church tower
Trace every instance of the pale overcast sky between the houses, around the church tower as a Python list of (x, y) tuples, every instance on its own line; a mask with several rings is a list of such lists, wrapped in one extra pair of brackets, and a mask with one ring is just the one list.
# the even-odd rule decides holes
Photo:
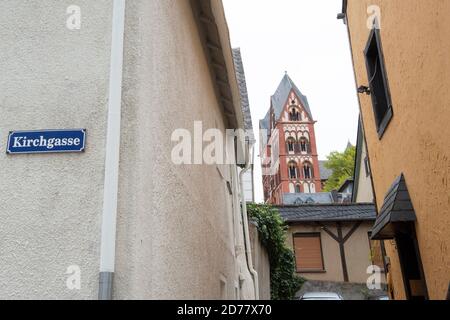
[[(253, 126), (259, 128), (285, 71), (308, 97), (319, 158), (355, 144), (358, 102), (342, 0), (223, 0), (233, 47), (240, 47)], [(259, 149), (258, 149), (259, 150)], [(259, 153), (258, 153), (259, 154)], [(256, 201), (263, 201), (260, 159)]]

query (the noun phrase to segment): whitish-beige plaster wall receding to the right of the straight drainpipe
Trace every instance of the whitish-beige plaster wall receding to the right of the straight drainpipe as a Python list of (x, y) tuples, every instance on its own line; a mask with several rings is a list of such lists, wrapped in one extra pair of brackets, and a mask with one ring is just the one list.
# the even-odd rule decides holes
[(248, 297), (236, 168), (171, 161), (175, 129), (226, 128), (189, 2), (128, 1), (126, 25), (115, 298), (235, 298), (240, 271)]

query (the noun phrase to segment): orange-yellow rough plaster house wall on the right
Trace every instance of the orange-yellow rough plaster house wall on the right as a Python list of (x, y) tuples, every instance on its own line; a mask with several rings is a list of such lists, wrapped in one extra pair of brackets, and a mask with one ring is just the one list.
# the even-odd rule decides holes
[[(367, 85), (367, 8), (381, 9), (381, 41), (394, 117), (378, 139), (371, 98), (360, 95), (378, 206), (402, 172), (417, 214), (417, 237), (431, 299), (450, 281), (450, 1), (349, 0), (357, 85)], [(395, 298), (405, 298), (395, 243), (386, 242)]]

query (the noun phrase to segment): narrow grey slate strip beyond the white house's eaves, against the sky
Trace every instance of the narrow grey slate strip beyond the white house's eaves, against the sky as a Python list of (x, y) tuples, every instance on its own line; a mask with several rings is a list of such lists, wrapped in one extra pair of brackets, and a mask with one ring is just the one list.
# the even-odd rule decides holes
[(241, 108), (244, 115), (245, 130), (251, 132), (251, 137), (255, 141), (253, 134), (252, 114), (250, 111), (250, 102), (248, 99), (247, 81), (245, 79), (244, 65), (242, 63), (241, 49), (233, 49), (234, 68), (236, 71), (236, 79), (239, 85), (239, 91), (241, 95)]

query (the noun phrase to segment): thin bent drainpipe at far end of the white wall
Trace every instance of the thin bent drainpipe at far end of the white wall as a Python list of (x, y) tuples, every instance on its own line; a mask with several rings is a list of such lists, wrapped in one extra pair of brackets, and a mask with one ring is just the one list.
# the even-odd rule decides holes
[[(248, 146), (248, 153), (251, 152), (253, 149), (253, 145), (249, 144)], [(250, 157), (248, 157), (245, 168), (241, 171), (239, 174), (239, 182), (241, 185), (241, 203), (242, 203), (242, 220), (244, 223), (244, 238), (245, 238), (245, 252), (247, 257), (247, 265), (248, 269), (253, 277), (253, 284), (255, 289), (255, 300), (259, 300), (259, 280), (258, 280), (258, 272), (253, 268), (253, 261), (252, 261), (252, 247), (250, 245), (250, 235), (249, 235), (249, 229), (248, 229), (248, 215), (247, 215), (247, 202), (245, 201), (245, 194), (244, 194), (244, 175), (245, 173), (250, 169), (251, 161)]]

